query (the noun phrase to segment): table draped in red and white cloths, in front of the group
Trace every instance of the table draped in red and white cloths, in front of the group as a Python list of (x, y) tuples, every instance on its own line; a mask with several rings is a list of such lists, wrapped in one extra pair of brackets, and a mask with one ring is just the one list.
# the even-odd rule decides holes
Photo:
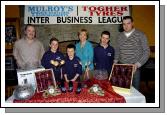
[[(93, 83), (97, 83), (96, 81)], [(145, 103), (145, 96), (132, 87), (131, 94), (117, 94), (112, 90), (112, 86), (107, 81), (103, 81), (100, 87), (105, 89), (105, 96), (98, 96), (96, 94), (89, 94), (87, 88), (83, 88), (82, 92), (77, 95), (75, 92), (63, 93), (61, 95), (49, 98), (43, 98), (42, 93), (35, 94), (30, 100), (14, 100), (14, 96), (11, 96), (6, 101), (7, 103)], [(75, 85), (74, 85), (75, 87)], [(107, 87), (107, 88), (106, 88)], [(75, 88), (74, 88), (75, 89)]]

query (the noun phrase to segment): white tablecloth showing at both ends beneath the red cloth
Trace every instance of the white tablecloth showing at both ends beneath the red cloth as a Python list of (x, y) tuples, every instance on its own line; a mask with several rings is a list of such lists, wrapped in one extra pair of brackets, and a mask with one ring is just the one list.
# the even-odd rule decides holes
[[(124, 96), (126, 103), (146, 103), (145, 96), (141, 94), (138, 90), (134, 87), (131, 89), (131, 94), (123, 94), (119, 93), (120, 95)], [(13, 103), (14, 96), (12, 95), (6, 100), (6, 103)]]

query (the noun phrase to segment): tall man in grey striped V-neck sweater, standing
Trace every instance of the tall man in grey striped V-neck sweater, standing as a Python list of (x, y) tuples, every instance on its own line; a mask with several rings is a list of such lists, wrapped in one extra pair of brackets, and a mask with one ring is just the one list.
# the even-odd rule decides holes
[(133, 18), (123, 18), (124, 31), (118, 35), (115, 47), (114, 63), (134, 64), (134, 75), (132, 85), (140, 88), (140, 67), (146, 63), (150, 55), (146, 35), (135, 29)]

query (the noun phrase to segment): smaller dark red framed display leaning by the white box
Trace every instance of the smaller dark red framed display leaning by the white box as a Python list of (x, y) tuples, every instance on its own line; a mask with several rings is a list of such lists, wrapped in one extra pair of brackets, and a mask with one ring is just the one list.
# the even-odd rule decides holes
[(47, 90), (49, 86), (56, 87), (56, 81), (52, 69), (35, 72), (35, 78), (38, 93)]

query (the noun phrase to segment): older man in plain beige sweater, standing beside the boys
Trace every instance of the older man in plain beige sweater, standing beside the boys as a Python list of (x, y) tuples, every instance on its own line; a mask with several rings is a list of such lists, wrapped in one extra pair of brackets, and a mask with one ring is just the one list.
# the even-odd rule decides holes
[(27, 24), (25, 26), (25, 36), (14, 44), (13, 55), (20, 69), (36, 68), (41, 65), (44, 47), (35, 36), (34, 25)]

